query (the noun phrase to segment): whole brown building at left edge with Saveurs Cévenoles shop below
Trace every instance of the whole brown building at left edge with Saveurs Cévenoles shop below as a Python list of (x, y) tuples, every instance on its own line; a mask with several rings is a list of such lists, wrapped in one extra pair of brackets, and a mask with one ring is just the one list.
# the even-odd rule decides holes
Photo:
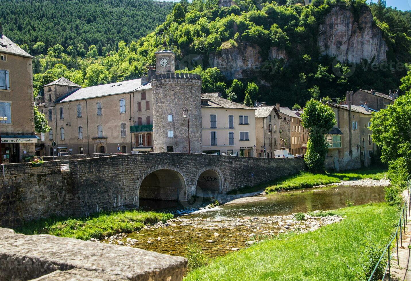
[(0, 121), (2, 163), (35, 155), (33, 57), (7, 38), (0, 25)]

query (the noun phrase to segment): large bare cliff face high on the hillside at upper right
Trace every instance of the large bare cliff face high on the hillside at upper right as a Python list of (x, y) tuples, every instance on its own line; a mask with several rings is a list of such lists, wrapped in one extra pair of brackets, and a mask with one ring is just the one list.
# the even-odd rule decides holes
[(333, 7), (319, 25), (317, 44), (322, 55), (336, 57), (340, 62), (359, 63), (362, 59), (386, 60), (387, 44), (382, 31), (374, 24), (369, 7), (363, 7), (358, 21), (351, 9)]

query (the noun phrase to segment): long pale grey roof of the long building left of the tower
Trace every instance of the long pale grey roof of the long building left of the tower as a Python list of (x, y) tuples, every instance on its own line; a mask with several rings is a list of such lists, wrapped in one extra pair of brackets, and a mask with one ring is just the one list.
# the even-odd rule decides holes
[(77, 101), (80, 99), (92, 99), (95, 97), (110, 96), (113, 94), (125, 94), (134, 91), (151, 89), (150, 82), (141, 85), (141, 78), (110, 84), (97, 85), (75, 90), (56, 102)]

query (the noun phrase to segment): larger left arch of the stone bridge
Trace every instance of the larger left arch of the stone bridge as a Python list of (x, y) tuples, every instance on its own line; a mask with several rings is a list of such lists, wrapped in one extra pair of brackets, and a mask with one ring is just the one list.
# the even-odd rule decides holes
[(185, 201), (187, 176), (176, 166), (157, 165), (141, 175), (137, 182), (137, 190), (139, 200)]

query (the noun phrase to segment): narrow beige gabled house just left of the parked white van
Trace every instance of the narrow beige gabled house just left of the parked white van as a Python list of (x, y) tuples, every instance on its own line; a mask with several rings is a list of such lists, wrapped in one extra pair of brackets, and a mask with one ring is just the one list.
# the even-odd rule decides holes
[(273, 152), (280, 146), (281, 116), (275, 106), (259, 106), (255, 111), (256, 118), (256, 154), (258, 157), (272, 158)]

